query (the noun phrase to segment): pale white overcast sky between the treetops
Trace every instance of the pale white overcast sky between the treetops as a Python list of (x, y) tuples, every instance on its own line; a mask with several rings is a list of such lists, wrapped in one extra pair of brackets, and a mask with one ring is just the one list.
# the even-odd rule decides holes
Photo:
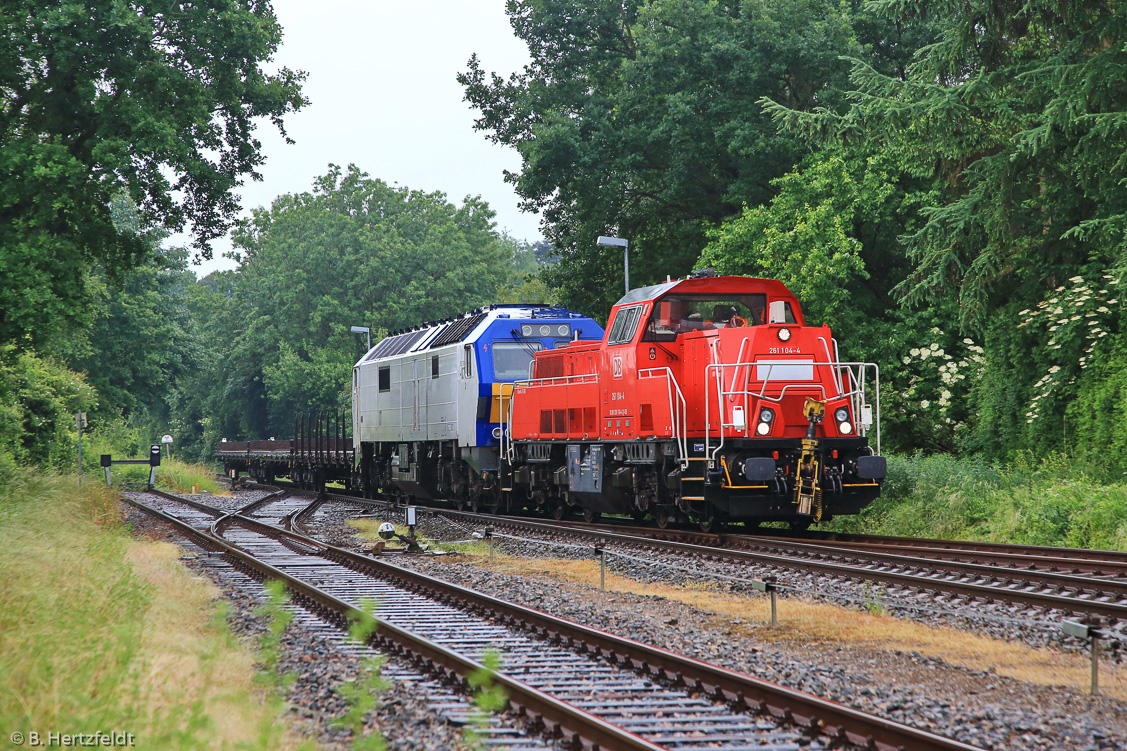
[[(274, 11), (284, 29), (275, 62), (309, 73), (310, 104), (285, 121), (292, 145), (269, 123), (259, 125), (266, 164), (263, 182), (241, 189), (245, 214), (310, 189), (329, 162), (354, 162), (388, 183), (442, 191), (455, 204), (481, 195), (498, 229), (540, 239), (539, 218), (517, 209), (503, 179), (520, 156), (473, 130), (474, 112), (454, 80), (474, 52), (487, 71), (506, 77), (527, 62), (504, 0), (274, 0)], [(216, 259), (196, 273), (233, 267), (220, 257), (230, 247), (215, 241)]]

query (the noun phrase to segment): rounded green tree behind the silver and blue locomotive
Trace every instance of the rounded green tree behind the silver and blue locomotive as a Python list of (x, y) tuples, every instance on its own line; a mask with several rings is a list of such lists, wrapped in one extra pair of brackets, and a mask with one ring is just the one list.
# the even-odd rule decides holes
[(371, 327), (374, 342), (496, 301), (514, 262), (529, 259), (492, 218), (478, 197), (456, 206), (354, 166), (257, 210), (234, 235), (239, 268), (193, 302), (218, 355), (194, 408), (204, 430), (289, 436), (295, 412), (348, 404), (363, 353), (352, 325)]

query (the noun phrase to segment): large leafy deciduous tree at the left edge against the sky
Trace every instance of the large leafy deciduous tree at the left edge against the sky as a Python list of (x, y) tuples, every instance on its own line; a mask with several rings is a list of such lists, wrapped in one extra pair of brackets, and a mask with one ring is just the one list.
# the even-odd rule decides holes
[[(115, 227), (227, 231), (261, 164), (255, 122), (305, 104), (303, 73), (261, 65), (282, 29), (264, 0), (5, 0), (0, 30), (0, 344), (83, 320), (87, 270), (150, 245)], [(282, 131), (284, 134), (284, 130)]]

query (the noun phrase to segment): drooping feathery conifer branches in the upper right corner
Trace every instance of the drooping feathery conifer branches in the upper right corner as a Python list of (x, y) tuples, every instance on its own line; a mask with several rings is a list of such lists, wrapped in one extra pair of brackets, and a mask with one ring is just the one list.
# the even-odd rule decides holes
[[(875, 3), (939, 38), (899, 79), (858, 61), (844, 116), (763, 100), (791, 132), (896, 154), (941, 195), (905, 238), (908, 302), (958, 295), (982, 326), (1127, 250), (1127, 25), (1111, 3)], [(1089, 268), (1089, 271), (1091, 271)]]

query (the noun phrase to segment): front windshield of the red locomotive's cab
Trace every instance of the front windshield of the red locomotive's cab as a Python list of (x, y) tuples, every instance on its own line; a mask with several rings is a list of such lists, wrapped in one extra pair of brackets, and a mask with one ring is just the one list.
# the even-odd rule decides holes
[[(789, 302), (784, 320), (795, 323)], [(711, 294), (671, 294), (654, 304), (642, 342), (673, 342), (681, 334), (709, 328), (761, 326), (766, 323), (767, 295), (738, 294), (719, 298)]]

